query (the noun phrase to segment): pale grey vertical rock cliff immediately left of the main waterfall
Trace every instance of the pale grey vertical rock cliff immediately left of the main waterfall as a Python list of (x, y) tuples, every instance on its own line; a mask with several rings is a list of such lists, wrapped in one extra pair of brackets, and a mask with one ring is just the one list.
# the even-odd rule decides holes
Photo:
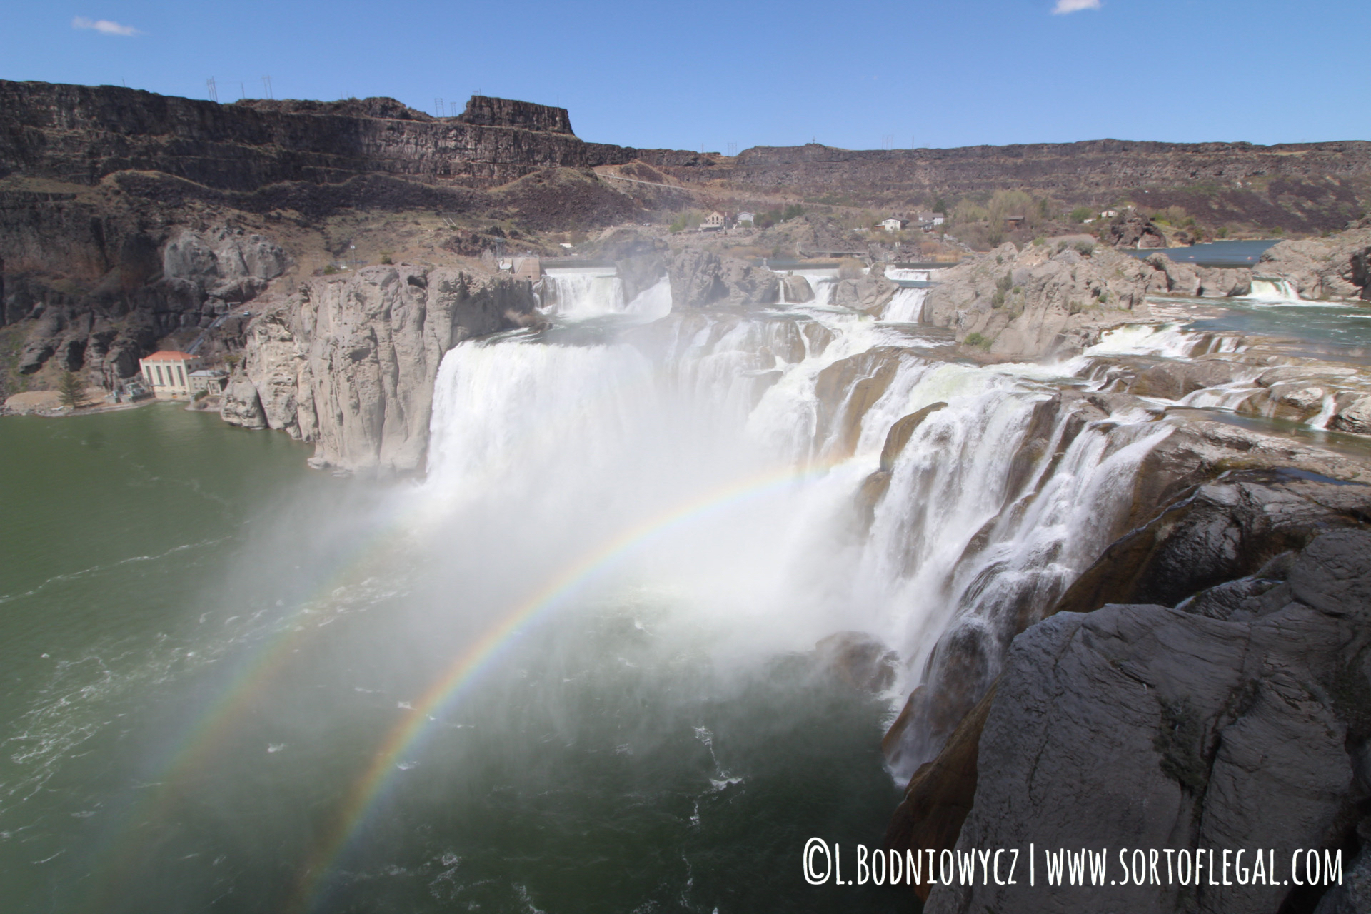
[(457, 270), (402, 264), (313, 281), (254, 321), (223, 418), (248, 425), (259, 410), (266, 428), (314, 441), (313, 466), (420, 470), (443, 355), (532, 311), (526, 282)]

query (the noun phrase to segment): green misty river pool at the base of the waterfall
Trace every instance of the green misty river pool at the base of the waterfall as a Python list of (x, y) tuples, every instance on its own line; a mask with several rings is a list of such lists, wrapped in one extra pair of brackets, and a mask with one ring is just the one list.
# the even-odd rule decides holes
[(650, 588), (528, 632), (347, 815), (481, 623), (395, 533), (413, 484), (307, 456), (170, 404), (0, 419), (0, 909), (916, 910), (801, 873), (880, 843), (888, 707), (808, 655), (721, 669)]

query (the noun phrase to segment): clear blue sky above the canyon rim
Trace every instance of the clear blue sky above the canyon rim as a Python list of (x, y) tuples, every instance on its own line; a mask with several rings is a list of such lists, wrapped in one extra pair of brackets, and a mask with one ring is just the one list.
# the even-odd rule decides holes
[[(1054, 7), (1064, 7), (1056, 12)], [(1071, 11), (1073, 7), (1073, 11)], [(0, 78), (221, 101), (483, 90), (728, 152), (1371, 138), (1368, 0), (4, 0)]]

